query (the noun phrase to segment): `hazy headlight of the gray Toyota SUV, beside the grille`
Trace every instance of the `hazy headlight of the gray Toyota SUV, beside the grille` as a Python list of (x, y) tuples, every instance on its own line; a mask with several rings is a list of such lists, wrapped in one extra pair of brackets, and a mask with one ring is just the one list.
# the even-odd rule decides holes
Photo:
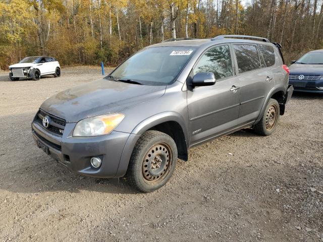
[(84, 118), (76, 124), (73, 136), (87, 137), (110, 134), (124, 117), (123, 113), (112, 113)]

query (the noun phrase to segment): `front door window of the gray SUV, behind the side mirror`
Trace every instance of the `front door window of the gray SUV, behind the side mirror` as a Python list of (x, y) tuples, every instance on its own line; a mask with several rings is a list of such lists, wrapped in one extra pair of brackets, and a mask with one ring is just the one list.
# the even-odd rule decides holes
[(194, 75), (200, 72), (212, 72), (217, 80), (232, 77), (229, 45), (216, 46), (207, 50), (193, 70)]

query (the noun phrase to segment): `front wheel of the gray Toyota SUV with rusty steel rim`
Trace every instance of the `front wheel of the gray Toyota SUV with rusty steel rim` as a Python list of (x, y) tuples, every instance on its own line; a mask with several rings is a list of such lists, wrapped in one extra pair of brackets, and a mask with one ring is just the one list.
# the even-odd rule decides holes
[(126, 178), (135, 189), (149, 193), (164, 186), (174, 173), (177, 147), (169, 135), (147, 131), (132, 152)]

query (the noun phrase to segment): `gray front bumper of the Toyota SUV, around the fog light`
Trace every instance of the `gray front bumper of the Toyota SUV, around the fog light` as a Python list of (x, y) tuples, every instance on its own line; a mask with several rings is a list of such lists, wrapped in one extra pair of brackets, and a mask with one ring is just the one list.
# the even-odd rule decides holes
[[(60, 136), (33, 122), (32, 136), (46, 154), (76, 173), (95, 177), (123, 176), (138, 135), (114, 131), (109, 135), (76, 138), (72, 137), (75, 125), (66, 124)], [(91, 157), (101, 158), (99, 168), (91, 166)]]

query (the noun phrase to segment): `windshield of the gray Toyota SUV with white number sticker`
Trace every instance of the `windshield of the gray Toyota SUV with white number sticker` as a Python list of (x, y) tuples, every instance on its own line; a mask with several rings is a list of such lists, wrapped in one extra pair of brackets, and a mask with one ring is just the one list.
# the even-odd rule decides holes
[(143, 85), (168, 85), (180, 74), (194, 47), (150, 47), (135, 53), (112, 74), (117, 81)]

